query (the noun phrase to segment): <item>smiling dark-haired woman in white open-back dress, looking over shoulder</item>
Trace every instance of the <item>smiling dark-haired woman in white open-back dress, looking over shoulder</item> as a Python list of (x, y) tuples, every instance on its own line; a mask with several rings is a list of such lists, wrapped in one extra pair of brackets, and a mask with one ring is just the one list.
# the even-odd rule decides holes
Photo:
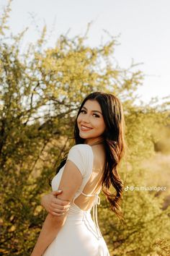
[[(74, 129), (76, 143), (52, 180), (53, 191), (62, 193), (56, 193), (52, 208), (54, 192), (42, 200), (50, 213), (32, 256), (109, 256), (97, 222), (97, 205), (102, 189), (111, 210), (121, 218), (123, 186), (117, 164), (125, 145), (123, 127), (122, 105), (114, 95), (97, 92), (84, 99)], [(116, 195), (109, 192), (111, 185)]]

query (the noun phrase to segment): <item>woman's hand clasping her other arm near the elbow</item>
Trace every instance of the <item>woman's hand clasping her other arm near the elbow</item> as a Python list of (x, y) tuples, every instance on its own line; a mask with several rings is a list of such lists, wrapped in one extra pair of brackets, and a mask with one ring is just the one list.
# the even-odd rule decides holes
[(70, 208), (69, 201), (63, 201), (57, 198), (58, 195), (61, 195), (62, 191), (57, 190), (53, 191), (50, 194), (42, 196), (41, 205), (48, 211), (48, 213), (53, 216), (61, 216), (65, 214)]

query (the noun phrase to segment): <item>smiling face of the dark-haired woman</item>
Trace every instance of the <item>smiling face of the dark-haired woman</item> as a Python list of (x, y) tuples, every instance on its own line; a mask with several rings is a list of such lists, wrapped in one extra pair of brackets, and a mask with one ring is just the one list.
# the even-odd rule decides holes
[(85, 139), (87, 144), (96, 142), (103, 134), (106, 126), (102, 115), (102, 109), (96, 100), (88, 100), (81, 108), (77, 118), (79, 136)]

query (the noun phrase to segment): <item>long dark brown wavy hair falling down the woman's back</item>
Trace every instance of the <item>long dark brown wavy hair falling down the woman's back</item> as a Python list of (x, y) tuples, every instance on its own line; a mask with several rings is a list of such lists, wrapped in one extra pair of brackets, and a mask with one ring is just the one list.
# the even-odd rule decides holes
[[(84, 139), (79, 136), (77, 118), (81, 113), (81, 108), (84, 106), (84, 103), (86, 103), (88, 100), (97, 101), (99, 103), (102, 109), (104, 123), (106, 125), (106, 130), (102, 135), (102, 143), (106, 152), (106, 164), (102, 177), (102, 191), (110, 203), (111, 210), (116, 213), (118, 218), (122, 219), (120, 201), (122, 199), (123, 183), (117, 171), (117, 166), (120, 163), (125, 150), (125, 120), (122, 104), (115, 95), (110, 93), (95, 92), (89, 94), (81, 103), (78, 114), (76, 116), (74, 127), (74, 140), (76, 145), (84, 144)], [(66, 158), (61, 161), (60, 166), (57, 168), (57, 173), (65, 163)], [(111, 186), (115, 188), (115, 194), (109, 191)]]

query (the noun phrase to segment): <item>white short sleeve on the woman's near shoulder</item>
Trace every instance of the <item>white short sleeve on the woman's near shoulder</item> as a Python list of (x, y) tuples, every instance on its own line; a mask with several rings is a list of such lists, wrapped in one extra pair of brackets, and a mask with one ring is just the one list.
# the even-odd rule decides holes
[(87, 162), (89, 162), (89, 147), (87, 145), (74, 145), (71, 150), (69, 150), (67, 160), (72, 161), (79, 171), (81, 172), (83, 178), (87, 174)]

